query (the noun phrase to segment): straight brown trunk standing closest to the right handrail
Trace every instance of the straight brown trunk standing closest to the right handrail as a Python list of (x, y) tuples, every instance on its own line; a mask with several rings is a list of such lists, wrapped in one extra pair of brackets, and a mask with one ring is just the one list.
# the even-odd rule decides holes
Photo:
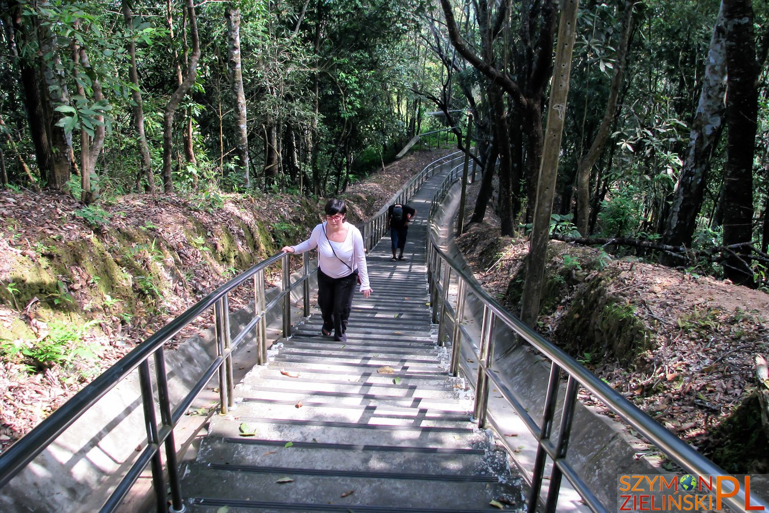
[(558, 156), (561, 153), (561, 137), (569, 92), (571, 54), (577, 35), (579, 0), (564, 0), (555, 52), (553, 85), (548, 107), (548, 128), (542, 151), (542, 165), (537, 185), (537, 202), (534, 205), (534, 225), (531, 227), (529, 252), (526, 258), (526, 281), (521, 298), (521, 321), (534, 327), (539, 315), (539, 305), (547, 263), (550, 218), (553, 212), (555, 181), (558, 175)]

